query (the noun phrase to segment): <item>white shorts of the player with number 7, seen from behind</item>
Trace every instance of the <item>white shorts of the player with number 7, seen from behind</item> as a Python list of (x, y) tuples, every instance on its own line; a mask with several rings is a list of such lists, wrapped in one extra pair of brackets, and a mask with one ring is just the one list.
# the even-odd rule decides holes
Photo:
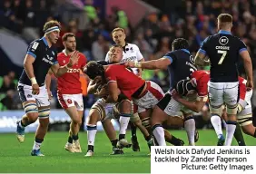
[(222, 104), (233, 107), (238, 102), (239, 82), (208, 82), (209, 101), (212, 108)]

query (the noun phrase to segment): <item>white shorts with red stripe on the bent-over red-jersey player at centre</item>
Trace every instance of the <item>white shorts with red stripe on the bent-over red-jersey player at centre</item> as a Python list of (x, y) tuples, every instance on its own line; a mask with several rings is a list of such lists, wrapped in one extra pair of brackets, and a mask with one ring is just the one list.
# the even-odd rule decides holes
[[(153, 107), (162, 99), (164, 92), (155, 82), (147, 81), (147, 91), (140, 99), (133, 99), (134, 104), (138, 106), (138, 113), (153, 109)], [(136, 111), (134, 111), (136, 112)]]

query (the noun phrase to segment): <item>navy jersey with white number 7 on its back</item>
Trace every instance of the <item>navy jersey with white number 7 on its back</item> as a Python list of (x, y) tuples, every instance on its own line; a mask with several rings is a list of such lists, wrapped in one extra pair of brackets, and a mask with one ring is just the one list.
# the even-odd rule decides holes
[(246, 45), (230, 32), (220, 31), (207, 37), (199, 50), (211, 62), (211, 82), (238, 82), (237, 63)]

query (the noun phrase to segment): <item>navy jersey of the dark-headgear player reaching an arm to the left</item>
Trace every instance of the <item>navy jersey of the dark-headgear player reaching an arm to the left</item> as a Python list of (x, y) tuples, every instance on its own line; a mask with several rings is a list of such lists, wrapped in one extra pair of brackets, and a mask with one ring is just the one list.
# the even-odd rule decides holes
[(163, 58), (171, 60), (171, 64), (168, 65), (171, 90), (175, 87), (177, 82), (183, 79), (189, 80), (190, 75), (197, 70), (193, 62), (192, 54), (186, 49), (166, 53)]

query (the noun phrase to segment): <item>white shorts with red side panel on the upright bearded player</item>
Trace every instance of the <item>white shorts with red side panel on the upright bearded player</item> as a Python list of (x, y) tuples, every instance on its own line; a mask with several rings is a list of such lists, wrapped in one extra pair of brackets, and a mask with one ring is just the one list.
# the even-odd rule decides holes
[(84, 102), (83, 102), (83, 94), (62, 94), (61, 92), (57, 92), (58, 101), (65, 109), (75, 106), (77, 111), (84, 111)]

